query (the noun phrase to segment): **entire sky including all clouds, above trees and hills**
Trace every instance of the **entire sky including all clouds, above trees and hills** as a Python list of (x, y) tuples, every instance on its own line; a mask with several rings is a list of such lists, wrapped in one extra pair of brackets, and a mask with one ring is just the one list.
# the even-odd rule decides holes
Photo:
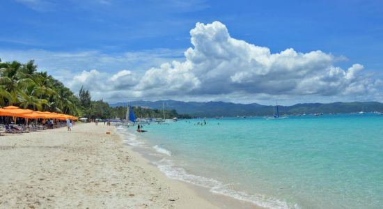
[(383, 1), (4, 0), (0, 59), (95, 100), (383, 102)]

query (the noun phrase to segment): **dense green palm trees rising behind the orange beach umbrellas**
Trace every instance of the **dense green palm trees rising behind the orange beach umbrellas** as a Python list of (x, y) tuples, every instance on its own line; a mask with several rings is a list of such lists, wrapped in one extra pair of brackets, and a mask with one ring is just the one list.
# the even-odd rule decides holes
[(34, 61), (19, 63), (0, 60), (0, 105), (54, 111), (81, 116), (79, 98), (61, 82), (37, 72)]

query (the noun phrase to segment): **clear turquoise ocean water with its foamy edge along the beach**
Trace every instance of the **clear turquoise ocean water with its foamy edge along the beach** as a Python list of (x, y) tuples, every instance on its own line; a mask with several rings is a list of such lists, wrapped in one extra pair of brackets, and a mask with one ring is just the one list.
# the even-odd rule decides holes
[(213, 193), (267, 208), (383, 207), (383, 116), (205, 121), (120, 132), (169, 178)]

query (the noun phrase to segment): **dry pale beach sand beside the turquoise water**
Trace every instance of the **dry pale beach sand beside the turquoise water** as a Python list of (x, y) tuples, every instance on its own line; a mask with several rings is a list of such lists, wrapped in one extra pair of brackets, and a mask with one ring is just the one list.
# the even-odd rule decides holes
[(103, 124), (0, 136), (0, 168), (0, 208), (217, 208)]

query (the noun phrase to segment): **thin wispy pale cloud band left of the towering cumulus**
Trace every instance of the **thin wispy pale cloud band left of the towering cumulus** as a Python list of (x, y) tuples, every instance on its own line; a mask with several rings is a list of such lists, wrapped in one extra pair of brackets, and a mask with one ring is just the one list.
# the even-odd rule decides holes
[(131, 69), (140, 72), (167, 61), (181, 61), (184, 59), (184, 51), (185, 49), (150, 49), (106, 54), (97, 50), (53, 52), (42, 49), (0, 49), (0, 58), (3, 61), (22, 62), (33, 59), (40, 70), (47, 70), (52, 75), (56, 75), (56, 72), (68, 72), (72, 75), (82, 70), (92, 69), (107, 72)]

